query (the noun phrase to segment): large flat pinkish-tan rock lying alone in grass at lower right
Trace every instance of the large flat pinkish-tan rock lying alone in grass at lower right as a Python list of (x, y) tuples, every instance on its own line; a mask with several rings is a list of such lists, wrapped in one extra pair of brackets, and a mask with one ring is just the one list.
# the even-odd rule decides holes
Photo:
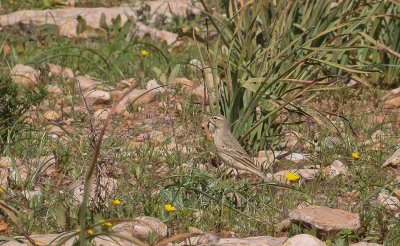
[(325, 232), (342, 229), (358, 230), (361, 227), (358, 214), (324, 206), (308, 206), (289, 213), (292, 222), (306, 223)]

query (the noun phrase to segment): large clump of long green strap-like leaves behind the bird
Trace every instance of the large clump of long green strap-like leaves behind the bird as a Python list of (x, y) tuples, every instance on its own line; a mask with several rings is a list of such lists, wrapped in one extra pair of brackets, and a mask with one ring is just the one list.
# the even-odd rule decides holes
[(232, 0), (220, 13), (201, 2), (218, 33), (207, 48), (199, 48), (214, 77), (208, 89), (215, 91), (217, 110), (232, 122), (234, 135), (253, 149), (270, 147), (287, 112), (324, 121), (318, 111), (305, 112), (293, 103), (311, 87), (326, 88), (349, 76), (362, 82), (361, 75), (371, 72), (359, 61), (368, 57), (357, 56), (370, 48), (358, 34), (379, 18), (379, 3), (255, 0), (239, 6)]

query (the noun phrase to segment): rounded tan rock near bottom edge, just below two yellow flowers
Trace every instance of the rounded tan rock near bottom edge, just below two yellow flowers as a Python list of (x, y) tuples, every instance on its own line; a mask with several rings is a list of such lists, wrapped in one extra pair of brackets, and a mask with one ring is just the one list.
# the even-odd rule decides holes
[(126, 233), (132, 237), (147, 240), (150, 233), (158, 239), (167, 236), (168, 228), (161, 220), (150, 216), (137, 217), (133, 221), (122, 222), (112, 228), (113, 232)]

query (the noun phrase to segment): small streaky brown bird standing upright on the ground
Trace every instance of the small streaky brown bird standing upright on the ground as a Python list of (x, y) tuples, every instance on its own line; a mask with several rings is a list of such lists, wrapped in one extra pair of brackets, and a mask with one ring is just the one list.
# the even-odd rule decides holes
[(243, 149), (237, 139), (229, 130), (228, 121), (222, 115), (212, 115), (209, 124), (213, 128), (212, 137), (216, 147), (218, 158), (223, 164), (237, 170), (245, 170), (258, 175), (263, 180), (270, 182), (271, 177), (264, 174)]

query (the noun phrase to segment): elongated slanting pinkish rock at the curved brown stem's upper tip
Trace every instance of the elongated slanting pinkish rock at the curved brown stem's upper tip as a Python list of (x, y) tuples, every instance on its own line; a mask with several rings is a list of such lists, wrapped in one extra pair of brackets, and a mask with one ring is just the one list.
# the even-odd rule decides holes
[[(124, 91), (119, 92), (118, 98), (124, 94)], [(115, 112), (117, 114), (124, 111), (131, 103), (133, 105), (144, 105), (151, 103), (156, 98), (156, 92), (148, 90), (132, 90), (118, 103)]]

